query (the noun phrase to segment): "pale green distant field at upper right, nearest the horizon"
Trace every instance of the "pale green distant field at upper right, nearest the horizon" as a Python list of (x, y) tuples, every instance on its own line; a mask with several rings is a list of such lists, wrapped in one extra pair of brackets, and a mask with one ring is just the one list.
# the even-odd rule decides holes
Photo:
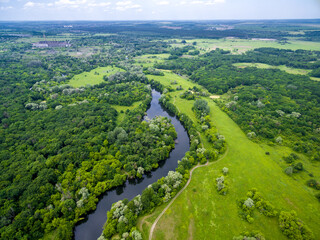
[[(172, 44), (172, 46), (181, 47), (181, 39), (176, 39), (177, 44)], [(230, 50), (234, 54), (241, 54), (248, 50), (261, 47), (272, 47), (280, 49), (305, 49), (305, 50), (320, 50), (320, 45), (317, 42), (307, 42), (290, 40), (288, 43), (280, 43), (274, 40), (250, 40), (250, 39), (192, 39), (186, 40), (188, 44), (197, 42), (196, 47), (203, 53), (207, 51), (214, 50), (216, 48), (222, 48), (225, 50)]]

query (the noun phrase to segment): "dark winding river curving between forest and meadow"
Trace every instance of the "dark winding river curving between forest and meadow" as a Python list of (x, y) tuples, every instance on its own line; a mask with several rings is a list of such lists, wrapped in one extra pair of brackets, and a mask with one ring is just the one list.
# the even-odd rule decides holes
[(178, 166), (178, 160), (184, 157), (189, 150), (189, 137), (175, 116), (170, 116), (159, 104), (161, 94), (152, 90), (152, 101), (150, 108), (147, 111), (148, 118), (155, 116), (164, 116), (171, 119), (177, 132), (177, 143), (171, 151), (167, 160), (159, 163), (159, 168), (151, 173), (143, 176), (142, 179), (127, 180), (126, 183), (118, 188), (107, 191), (97, 205), (97, 209), (88, 215), (86, 221), (77, 225), (74, 230), (74, 238), (76, 240), (96, 240), (102, 233), (102, 227), (107, 221), (107, 211), (111, 209), (113, 203), (124, 198), (132, 199), (149, 185), (156, 182), (158, 179), (166, 176), (169, 171), (175, 170)]

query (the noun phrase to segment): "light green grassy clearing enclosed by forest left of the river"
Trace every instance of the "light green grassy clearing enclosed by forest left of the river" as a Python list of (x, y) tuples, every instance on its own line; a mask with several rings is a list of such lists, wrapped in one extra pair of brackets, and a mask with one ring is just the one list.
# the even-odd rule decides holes
[(91, 70), (90, 72), (83, 72), (81, 74), (75, 75), (70, 81), (69, 85), (72, 87), (84, 87), (88, 84), (95, 85), (102, 83), (103, 76), (111, 75), (116, 72), (124, 71), (123, 69), (117, 68), (117, 67), (98, 67), (96, 69)]

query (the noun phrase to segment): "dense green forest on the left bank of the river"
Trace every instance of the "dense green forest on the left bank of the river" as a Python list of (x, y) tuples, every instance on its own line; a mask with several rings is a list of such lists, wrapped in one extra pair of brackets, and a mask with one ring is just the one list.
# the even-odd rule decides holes
[[(86, 45), (80, 42), (78, 47)], [(7, 46), (10, 54), (1, 53), (0, 72), (1, 236), (38, 239), (58, 229), (57, 236), (68, 239), (99, 195), (166, 159), (176, 133), (163, 118), (141, 122), (150, 86), (142, 69), (129, 63), (118, 63), (129, 71), (99, 85), (67, 84), (75, 74), (122, 59), (123, 53), (84, 60), (37, 49), (25, 53), (31, 49), (26, 44)], [(118, 122), (112, 105), (135, 102), (141, 102), (139, 109), (127, 110)]]

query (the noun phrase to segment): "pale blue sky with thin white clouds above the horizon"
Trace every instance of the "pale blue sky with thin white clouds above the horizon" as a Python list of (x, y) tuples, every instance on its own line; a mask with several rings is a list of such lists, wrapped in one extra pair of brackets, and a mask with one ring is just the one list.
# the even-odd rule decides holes
[(0, 21), (314, 18), (320, 0), (0, 0)]

